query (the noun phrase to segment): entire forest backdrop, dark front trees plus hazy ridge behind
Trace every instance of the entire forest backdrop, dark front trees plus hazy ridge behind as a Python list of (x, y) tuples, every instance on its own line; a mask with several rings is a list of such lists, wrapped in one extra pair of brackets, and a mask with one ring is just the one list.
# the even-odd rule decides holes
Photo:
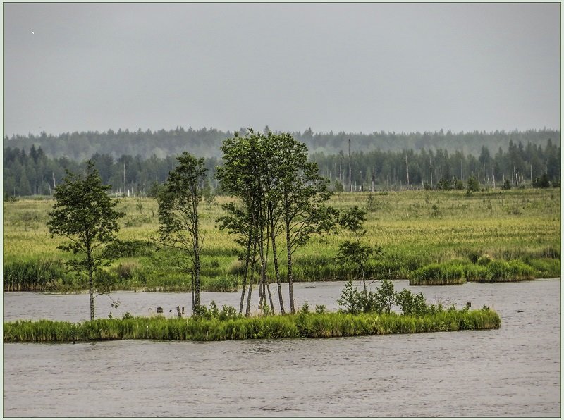
[[(309, 159), (336, 190), (449, 189), (470, 177), (492, 187), (536, 185), (539, 179), (560, 183), (557, 130), (315, 134), (308, 129), (291, 134), (306, 144)], [(80, 172), (92, 159), (113, 192), (151, 196), (184, 151), (205, 157), (209, 187), (221, 194), (214, 170), (221, 164), (221, 142), (231, 135), (176, 128), (6, 136), (4, 195), (50, 195), (66, 169)]]

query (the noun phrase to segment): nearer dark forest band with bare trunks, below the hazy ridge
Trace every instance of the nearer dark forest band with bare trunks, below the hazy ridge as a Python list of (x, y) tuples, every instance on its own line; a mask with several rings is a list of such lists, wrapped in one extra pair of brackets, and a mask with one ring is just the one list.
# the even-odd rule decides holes
[[(447, 149), (364, 152), (357, 150), (353, 139), (351, 149), (350, 186), (357, 191), (369, 190), (373, 176), (376, 190), (393, 190), (406, 185), (420, 188), (425, 183), (427, 187), (436, 188), (453, 184), (454, 178), (466, 182), (470, 176), (482, 185), (499, 187), (504, 180), (510, 180), (511, 185), (524, 185), (545, 173), (553, 183), (560, 183), (560, 145), (551, 139), (541, 145), (510, 140), (506, 149), (498, 147), (493, 151), (482, 145), (477, 155)], [(96, 153), (89, 157), (95, 161), (102, 182), (112, 185), (113, 192), (126, 195), (154, 196), (177, 164), (176, 155), (145, 158), (140, 154), (123, 154), (114, 159), (111, 154)], [(348, 151), (346, 154), (316, 152), (309, 159), (317, 162), (319, 172), (331, 180), (333, 187), (340, 183), (348, 190)], [(5, 147), (3, 163), (5, 196), (49, 195), (53, 187), (61, 183), (65, 169), (82, 173), (85, 168), (84, 161), (65, 156), (49, 157), (42, 147), (35, 145), (28, 149)], [(216, 194), (221, 194), (221, 187), (214, 179), (215, 168), (220, 165), (221, 159), (217, 157), (205, 159), (209, 187)]]

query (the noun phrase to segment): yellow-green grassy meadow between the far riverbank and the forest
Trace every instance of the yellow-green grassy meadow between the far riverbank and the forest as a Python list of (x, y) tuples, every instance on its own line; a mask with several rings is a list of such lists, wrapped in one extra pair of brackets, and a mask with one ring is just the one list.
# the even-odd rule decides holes
[[(490, 190), (470, 196), (465, 191), (372, 195), (365, 242), (384, 250), (382, 257), (369, 264), (372, 278), (410, 278), (414, 284), (427, 284), (434, 276), (439, 284), (450, 284), (457, 279), (507, 281), (560, 276), (559, 188)], [(368, 197), (368, 192), (336, 194), (329, 204), (337, 209), (367, 206)], [(206, 231), (203, 290), (233, 290), (238, 285), (242, 267), (238, 248), (233, 237), (220, 232), (215, 223), (222, 214), (220, 204), (228, 200), (217, 197), (211, 205), (202, 203)], [(63, 240), (49, 235), (45, 223), (53, 203), (48, 197), (4, 202), (5, 291), (85, 288), (84, 279), (68, 273), (63, 265), (71, 257), (56, 249)], [(123, 199), (118, 208), (127, 214), (121, 219), (118, 237), (135, 242), (130, 244), (127, 257), (106, 268), (106, 276), (116, 280), (114, 290), (189, 290), (190, 277), (176, 268), (169, 254), (151, 244), (157, 236), (157, 202)], [(350, 239), (345, 232), (312, 237), (295, 254), (296, 280), (350, 278), (350, 271), (335, 262), (338, 245), (345, 239)], [(283, 249), (283, 242), (278, 248)], [(281, 263), (283, 260), (282, 255)], [(285, 273), (283, 264), (281, 270)]]

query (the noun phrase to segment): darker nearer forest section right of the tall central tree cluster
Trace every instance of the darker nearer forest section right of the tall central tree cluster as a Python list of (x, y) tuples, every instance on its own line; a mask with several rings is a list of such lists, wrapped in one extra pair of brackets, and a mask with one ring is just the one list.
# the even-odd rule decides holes
[(449, 153), (446, 149), (423, 149), (420, 152), (406, 149), (355, 151), (350, 158), (342, 151), (331, 155), (314, 153), (310, 159), (318, 164), (322, 176), (345, 191), (371, 190), (373, 185), (379, 190), (405, 187), (448, 189), (455, 187), (457, 181), (469, 178), (474, 178), (480, 185), (497, 187), (506, 181), (515, 186), (537, 186), (535, 180), (542, 177), (551, 183), (560, 182), (560, 146), (551, 139), (546, 140), (544, 147), (532, 142), (524, 146), (522, 142), (510, 140), (505, 151), (499, 147), (495, 153), (482, 145), (477, 155), (460, 151)]

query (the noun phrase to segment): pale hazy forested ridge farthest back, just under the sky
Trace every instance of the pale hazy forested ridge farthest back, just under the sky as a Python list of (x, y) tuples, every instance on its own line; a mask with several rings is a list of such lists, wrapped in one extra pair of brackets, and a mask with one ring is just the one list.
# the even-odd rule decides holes
[[(264, 128), (269, 130), (268, 126)], [(241, 128), (238, 132), (244, 135), (247, 130)], [(273, 131), (274, 132), (274, 131)], [(495, 132), (373, 132), (372, 134), (338, 132), (314, 133), (311, 128), (304, 132), (291, 133), (296, 140), (304, 142), (310, 154), (324, 153), (338, 154), (348, 151), (348, 139), (351, 140), (353, 152), (367, 153), (379, 149), (381, 152), (398, 152), (400, 150), (422, 149), (443, 150), (448, 153), (462, 152), (479, 156), (482, 146), (491, 151), (500, 147), (507, 150), (509, 142), (518, 144), (532, 143), (544, 145), (551, 139), (553, 144), (560, 145), (559, 130), (527, 130), (527, 131), (495, 131)], [(190, 152), (195, 156), (215, 157), (221, 159), (219, 147), (228, 137), (233, 137), (233, 132), (223, 132), (214, 128), (201, 128), (193, 130), (183, 127), (175, 130), (108, 130), (107, 132), (73, 132), (60, 135), (13, 135), (4, 137), (4, 148), (17, 147), (30, 150), (32, 145), (41, 147), (49, 157), (66, 156), (74, 161), (85, 161), (94, 154), (109, 154), (114, 159), (122, 155), (141, 156), (147, 159), (150, 156), (165, 158), (176, 156), (182, 152)]]

